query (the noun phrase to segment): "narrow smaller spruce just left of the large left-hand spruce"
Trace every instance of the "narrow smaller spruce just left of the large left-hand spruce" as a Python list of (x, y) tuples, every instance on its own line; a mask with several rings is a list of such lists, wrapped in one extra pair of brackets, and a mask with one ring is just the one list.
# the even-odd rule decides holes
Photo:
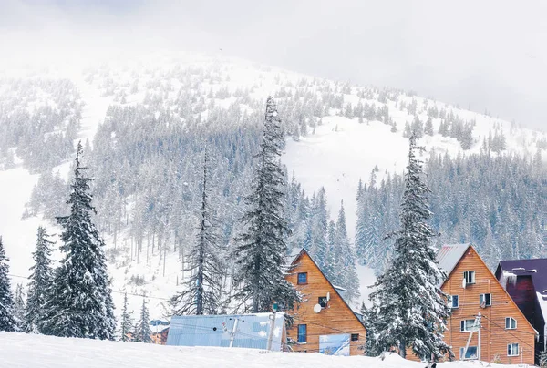
[(46, 304), (46, 290), (51, 284), (51, 247), (53, 242), (48, 240), (49, 235), (46, 229), (39, 227), (37, 230), (36, 250), (32, 253), (35, 261), (34, 266), (30, 268), (32, 274), (28, 283), (28, 292), (26, 294), (25, 310), (25, 331), (32, 333), (42, 332), (42, 325), (45, 318), (44, 305)]

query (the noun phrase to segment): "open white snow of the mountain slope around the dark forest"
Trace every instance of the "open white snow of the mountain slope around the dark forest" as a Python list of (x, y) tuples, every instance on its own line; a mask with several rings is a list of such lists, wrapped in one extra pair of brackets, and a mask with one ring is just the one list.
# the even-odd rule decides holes
[[(265, 97), (274, 95), (288, 133), (283, 157), (288, 172), (294, 171), (308, 195), (325, 187), (332, 217), (340, 202), (344, 201), (350, 237), (355, 232), (358, 180), (367, 182), (376, 166), (380, 174), (404, 169), (408, 150), (408, 141), (403, 136), (405, 125), (411, 125), (416, 118), (422, 126), (430, 118), (432, 133), (420, 139), (428, 150), (436, 149), (450, 155), (478, 152), (485, 140), (489, 141), (489, 136), (503, 136), (505, 142), (501, 152), (533, 155), (540, 149), (543, 158), (547, 158), (547, 135), (544, 132), (519, 128), (498, 118), (398, 90), (350, 86), (242, 60), (196, 55), (150, 56), (81, 68), (5, 68), (0, 72), (0, 103), (13, 100), (14, 84), (40, 78), (54, 81), (66, 78), (74, 84), (78, 96), (68, 99), (73, 102), (81, 100), (83, 106), (68, 104), (69, 114), (63, 116), (77, 115), (77, 109), (81, 108), (78, 131), (73, 138), (75, 141), (89, 140), (91, 146), (99, 125), (108, 114), (108, 107), (144, 107), (154, 111), (155, 118), (169, 113), (178, 119), (181, 127), (190, 124), (186, 118), (189, 114), (186, 111), (190, 111), (195, 118), (194, 124), (205, 127), (215, 108), (238, 109), (243, 111), (243, 115), (251, 114), (262, 109)], [(17, 89), (15, 97), (17, 93), (25, 94), (26, 90)], [(54, 93), (53, 97), (48, 97), (40, 93), (25, 108), (29, 111), (35, 111), (36, 106), (61, 109), (66, 104), (59, 100), (58, 95)], [(57, 100), (59, 102), (52, 103)], [(6, 103), (4, 109), (8, 107)], [(463, 128), (472, 128), (471, 136), (464, 137), (465, 133), (459, 131), (439, 134), (448, 116)], [(231, 122), (223, 121), (222, 124), (230, 125)], [(67, 122), (56, 122), (51, 132), (45, 135), (67, 130)], [(7, 150), (13, 156), (11, 163), (8, 162), (10, 154), (1, 157), (4, 170), (0, 171), (0, 192), (3, 193), (0, 196), (0, 234), (11, 258), (12, 273), (26, 276), (32, 265), (36, 227), (45, 222), (40, 214), (21, 220), (37, 175), (24, 169), (27, 166), (19, 159), (19, 153), (23, 153), (18, 152), (19, 146), (12, 144), (0, 148), (2, 155)], [(56, 163), (53, 171), (69, 179), (70, 165), (71, 159), (64, 158)], [(129, 199), (129, 210), (132, 205), (134, 203)], [(46, 225), (49, 232), (58, 233), (55, 224), (46, 221)], [(112, 236), (104, 236), (111, 254), (118, 255), (109, 265), (116, 304), (120, 305), (122, 291), (136, 294), (146, 291), (149, 296), (157, 298), (150, 300), (152, 316), (160, 316), (161, 303), (177, 290), (180, 281), (181, 262), (177, 253), (170, 253), (164, 262), (161, 252), (156, 252), (150, 261), (144, 262), (132, 256), (132, 235), (128, 229), (119, 232), (117, 245)], [(359, 273), (370, 272), (361, 270)], [(131, 281), (135, 275), (145, 278), (147, 284), (139, 286), (138, 282)], [(367, 279), (361, 281), (362, 296), (367, 293), (366, 285), (371, 283), (371, 278)], [(14, 283), (23, 281), (14, 279)], [(140, 298), (135, 296), (129, 300), (131, 308), (137, 310)]]

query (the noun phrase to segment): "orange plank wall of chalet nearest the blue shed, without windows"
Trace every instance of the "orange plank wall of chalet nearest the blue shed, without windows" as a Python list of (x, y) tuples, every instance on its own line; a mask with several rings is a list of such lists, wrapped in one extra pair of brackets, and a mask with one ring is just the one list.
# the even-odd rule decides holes
[[(298, 285), (299, 272), (307, 272), (307, 284)], [(294, 311), (289, 312), (294, 317), (294, 325), (287, 329), (287, 337), (297, 341), (298, 324), (306, 324), (307, 342), (294, 344), (295, 352), (319, 352), (319, 336), (341, 333), (358, 333), (359, 340), (350, 342), (350, 354), (364, 354), (366, 330), (361, 322), (357, 320), (346, 303), (338, 296), (335, 289), (325, 279), (325, 276), (317, 268), (314, 261), (307, 254), (303, 254), (297, 261), (296, 267), (287, 281), (294, 284), (296, 289), (304, 294), (304, 301)], [(330, 301), (321, 312), (314, 312), (314, 305), (318, 298), (330, 293)]]

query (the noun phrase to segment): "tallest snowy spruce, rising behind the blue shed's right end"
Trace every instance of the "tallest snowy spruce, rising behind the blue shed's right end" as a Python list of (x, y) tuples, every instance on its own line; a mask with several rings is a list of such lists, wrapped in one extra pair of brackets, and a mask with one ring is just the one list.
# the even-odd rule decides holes
[(246, 229), (236, 238), (234, 249), (234, 281), (241, 285), (234, 298), (243, 306), (250, 301), (252, 312), (269, 312), (272, 302), (292, 309), (299, 300), (293, 285), (284, 280), (288, 227), (283, 213), (284, 171), (279, 161), (283, 147), (281, 120), (274, 97), (268, 97), (251, 193), (245, 198), (248, 209), (241, 220)]

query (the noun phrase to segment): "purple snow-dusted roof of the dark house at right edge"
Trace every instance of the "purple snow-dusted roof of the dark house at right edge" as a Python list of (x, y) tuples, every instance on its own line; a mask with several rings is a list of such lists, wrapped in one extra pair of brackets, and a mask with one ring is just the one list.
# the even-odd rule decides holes
[[(504, 279), (508, 275), (530, 276), (536, 299), (542, 309), (543, 321), (547, 322), (547, 259), (500, 261), (496, 274)], [(501, 282), (501, 286), (507, 290), (506, 281)]]

